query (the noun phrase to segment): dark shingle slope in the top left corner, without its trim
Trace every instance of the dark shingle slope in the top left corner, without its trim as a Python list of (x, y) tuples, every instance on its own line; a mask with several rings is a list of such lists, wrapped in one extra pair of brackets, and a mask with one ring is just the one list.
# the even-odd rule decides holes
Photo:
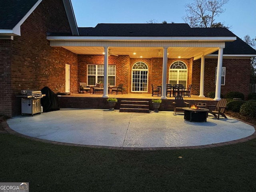
[(0, 0), (0, 29), (13, 29), (38, 0)]

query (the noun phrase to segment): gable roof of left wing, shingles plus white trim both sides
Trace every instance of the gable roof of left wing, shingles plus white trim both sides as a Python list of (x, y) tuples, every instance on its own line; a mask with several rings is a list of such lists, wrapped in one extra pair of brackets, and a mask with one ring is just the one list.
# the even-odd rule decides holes
[[(0, 0), (0, 36), (20, 35), (20, 26), (42, 0)], [(63, 0), (73, 35), (78, 35), (71, 0)]]

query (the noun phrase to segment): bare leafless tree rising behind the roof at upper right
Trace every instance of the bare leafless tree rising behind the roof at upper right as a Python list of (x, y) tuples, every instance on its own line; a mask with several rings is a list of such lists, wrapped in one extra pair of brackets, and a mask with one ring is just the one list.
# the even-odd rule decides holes
[(215, 18), (225, 12), (222, 7), (226, 3), (228, 0), (194, 0), (194, 3), (185, 4), (187, 14), (183, 20), (190, 27), (226, 27), (215, 22)]

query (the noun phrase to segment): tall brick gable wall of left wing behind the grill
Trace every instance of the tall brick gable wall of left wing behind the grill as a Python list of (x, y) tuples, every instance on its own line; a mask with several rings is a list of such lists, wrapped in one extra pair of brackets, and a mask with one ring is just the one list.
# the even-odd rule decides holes
[(1, 100), (6, 102), (0, 103), (0, 114), (21, 113), (20, 98), (16, 98), (20, 90), (41, 90), (48, 86), (54, 92), (65, 92), (65, 64), (70, 64), (70, 91), (77, 92), (77, 55), (64, 48), (50, 47), (46, 32), (71, 32), (62, 0), (43, 0), (22, 24), (21, 36), (1, 40), (1, 49), (10, 49), (11, 45), (12, 54), (8, 54), (10, 62), (4, 60), (6, 56), (1, 52), (1, 68), (8, 66), (4, 68), (4, 75), (6, 87), (11, 90), (6, 88), (8, 94), (1, 95)]

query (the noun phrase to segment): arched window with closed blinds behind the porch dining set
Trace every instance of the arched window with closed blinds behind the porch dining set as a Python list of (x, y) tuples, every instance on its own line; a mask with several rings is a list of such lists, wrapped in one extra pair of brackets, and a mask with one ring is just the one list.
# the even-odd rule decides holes
[(182, 61), (176, 61), (171, 64), (169, 70), (169, 84), (182, 84), (187, 86), (188, 70), (187, 66)]

